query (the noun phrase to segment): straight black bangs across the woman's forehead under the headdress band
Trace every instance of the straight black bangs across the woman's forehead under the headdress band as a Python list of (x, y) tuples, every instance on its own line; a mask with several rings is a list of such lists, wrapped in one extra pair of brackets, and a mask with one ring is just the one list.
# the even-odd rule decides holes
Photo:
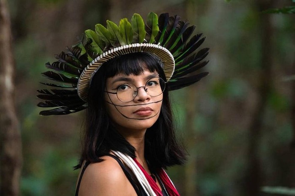
[(153, 54), (145, 52), (136, 52), (124, 54), (115, 57), (103, 64), (106, 71), (106, 78), (113, 77), (117, 74), (124, 75), (140, 75), (145, 70), (150, 72), (160, 73), (162, 70), (162, 63)]

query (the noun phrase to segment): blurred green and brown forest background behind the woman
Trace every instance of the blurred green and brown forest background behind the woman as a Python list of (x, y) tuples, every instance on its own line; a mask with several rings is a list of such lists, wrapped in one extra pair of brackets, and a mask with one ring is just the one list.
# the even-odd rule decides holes
[[(44, 64), (97, 23), (110, 19), (118, 24), (133, 13), (145, 19), (151, 11), (178, 14), (196, 24), (195, 31), (206, 36), (202, 48), (210, 48), (205, 67), (210, 75), (171, 92), (177, 133), (190, 154), (186, 165), (168, 169), (180, 195), (277, 195), (262, 191), (268, 186), (294, 191), (295, 18), (263, 12), (294, 6), (294, 1), (7, 2), (22, 140), (22, 148), (17, 146), (22, 149), (20, 195), (74, 195), (79, 172), (73, 166), (81, 150), (83, 112), (39, 116), (35, 96), (45, 88), (39, 82), (47, 81), (40, 74)], [(2, 117), (3, 112), (8, 113), (1, 111)], [(1, 134), (5, 131), (2, 127)], [(2, 156), (0, 167), (7, 161)], [(1, 177), (2, 188), (7, 178)]]

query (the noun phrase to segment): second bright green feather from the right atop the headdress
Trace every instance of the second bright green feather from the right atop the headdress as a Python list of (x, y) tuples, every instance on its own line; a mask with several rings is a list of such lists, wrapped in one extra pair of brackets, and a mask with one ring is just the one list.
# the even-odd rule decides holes
[(138, 38), (138, 43), (142, 43), (143, 40), (145, 39), (145, 22), (143, 22), (142, 17), (135, 13), (133, 14), (132, 18), (131, 18), (131, 25), (133, 28), (133, 32), (134, 37), (135, 37), (135, 41), (137, 42), (137, 38)]

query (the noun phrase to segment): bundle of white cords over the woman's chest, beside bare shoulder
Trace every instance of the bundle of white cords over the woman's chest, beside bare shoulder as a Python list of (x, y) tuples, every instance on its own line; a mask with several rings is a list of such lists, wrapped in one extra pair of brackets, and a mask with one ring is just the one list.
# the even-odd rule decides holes
[(137, 180), (139, 181), (140, 185), (142, 186), (147, 195), (157, 196), (150, 184), (148, 183), (145, 174), (142, 173), (141, 169), (130, 156), (127, 156), (118, 151), (112, 151), (112, 153), (119, 157), (127, 165), (127, 167), (131, 169), (131, 171), (136, 176)]

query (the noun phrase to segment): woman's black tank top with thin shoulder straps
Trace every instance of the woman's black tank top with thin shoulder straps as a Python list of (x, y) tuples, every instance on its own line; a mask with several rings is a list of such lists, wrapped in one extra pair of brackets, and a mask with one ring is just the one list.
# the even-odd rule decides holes
[[(105, 156), (112, 157), (112, 158), (114, 158), (114, 159), (119, 163), (119, 165), (121, 166), (122, 170), (124, 171), (124, 174), (126, 175), (127, 179), (130, 181), (130, 183), (131, 183), (131, 185), (133, 186), (133, 188), (134, 188), (134, 190), (135, 190), (135, 192), (136, 192), (137, 195), (139, 195), (139, 196), (148, 196), (148, 195), (145, 193), (145, 191), (144, 191), (144, 189), (142, 188), (142, 186), (139, 184), (138, 180), (135, 179), (135, 178), (133, 177), (133, 175), (130, 173), (130, 171), (126, 169), (125, 165), (121, 162), (121, 160), (120, 160), (118, 157), (116, 157), (115, 155), (112, 155), (112, 154), (106, 154)], [(85, 162), (85, 165), (84, 165), (83, 168), (82, 168), (81, 175), (80, 175), (80, 177), (79, 177), (79, 181), (78, 181), (78, 184), (77, 184), (77, 188), (76, 188), (75, 196), (78, 196), (78, 193), (79, 193), (79, 186), (80, 186), (80, 183), (81, 183), (81, 180), (82, 180), (82, 176), (83, 176), (83, 174), (84, 174), (84, 172), (85, 172), (85, 169), (87, 168), (87, 166), (88, 166), (89, 164), (90, 164), (90, 162)], [(163, 185), (161, 184), (161, 186), (163, 186)], [(162, 194), (163, 194), (163, 196), (168, 196), (168, 195), (165, 193), (164, 189), (165, 189), (165, 188), (162, 187)]]

